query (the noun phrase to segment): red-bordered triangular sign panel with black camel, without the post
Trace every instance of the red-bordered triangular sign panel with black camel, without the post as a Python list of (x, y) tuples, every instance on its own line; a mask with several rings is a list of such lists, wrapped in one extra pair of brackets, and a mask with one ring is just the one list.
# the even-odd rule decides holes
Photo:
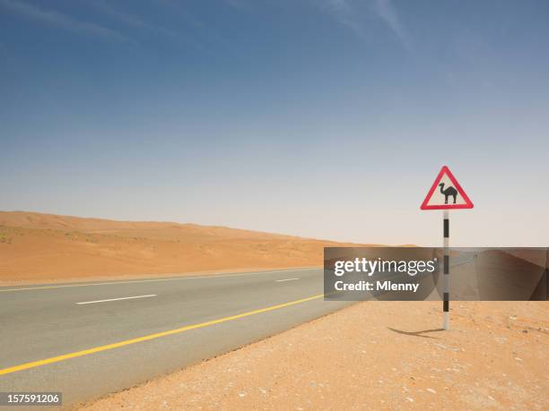
[(449, 167), (440, 168), (439, 176), (423, 200), (422, 210), (472, 209), (473, 202), (457, 183)]

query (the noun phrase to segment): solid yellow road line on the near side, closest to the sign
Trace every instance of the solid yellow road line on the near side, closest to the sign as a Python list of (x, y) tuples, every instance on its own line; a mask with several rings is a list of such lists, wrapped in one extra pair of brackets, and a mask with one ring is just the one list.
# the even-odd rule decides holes
[(125, 346), (129, 346), (129, 345), (132, 345), (132, 344), (137, 344), (137, 343), (140, 343), (140, 342), (144, 342), (144, 341), (149, 341), (151, 339), (167, 337), (167, 336), (170, 336), (170, 335), (179, 334), (179, 333), (189, 331), (189, 330), (202, 329), (204, 327), (209, 327), (209, 326), (214, 325), (214, 324), (220, 324), (222, 322), (233, 321), (233, 320), (238, 320), (240, 318), (249, 317), (250, 315), (256, 315), (256, 314), (260, 314), (260, 313), (268, 313), (270, 311), (279, 310), (281, 308), (289, 307), (291, 305), (301, 304), (301, 303), (305, 303), (307, 301), (322, 298), (323, 296), (324, 296), (323, 294), (312, 295), (312, 296), (309, 296), (307, 298), (301, 298), (301, 300), (295, 300), (295, 301), (290, 301), (289, 303), (271, 305), (270, 307), (260, 308), (258, 310), (254, 310), (254, 311), (249, 311), (248, 313), (240, 313), (240, 314), (236, 314), (236, 315), (231, 315), (230, 317), (223, 317), (223, 318), (213, 320), (213, 321), (205, 321), (205, 322), (201, 322), (199, 324), (187, 325), (185, 327), (181, 327), (181, 328), (175, 329), (175, 330), (161, 331), (161, 332), (157, 332), (156, 334), (150, 334), (150, 335), (143, 336), (143, 337), (126, 339), (125, 341), (118, 341), (117, 343), (108, 344), (106, 346), (88, 348), (88, 349), (84, 349), (82, 351), (76, 351), (74, 353), (68, 353), (68, 354), (64, 354), (64, 355), (52, 356), (50, 358), (46, 358), (46, 359), (43, 359), (43, 360), (32, 361), (31, 363), (19, 364), (19, 365), (15, 365), (13, 367), (4, 368), (4, 369), (0, 370), (0, 375), (5, 375), (5, 374), (12, 373), (12, 372), (18, 372), (18, 371), (23, 371), (23, 370), (29, 370), (30, 368), (36, 368), (36, 367), (39, 367), (39, 366), (42, 366), (42, 365), (58, 363), (60, 361), (65, 361), (65, 360), (68, 360), (68, 359), (71, 359), (71, 358), (76, 358), (76, 357), (83, 356), (83, 355), (90, 355), (90, 354), (100, 353), (101, 351), (107, 351), (109, 349), (125, 347)]

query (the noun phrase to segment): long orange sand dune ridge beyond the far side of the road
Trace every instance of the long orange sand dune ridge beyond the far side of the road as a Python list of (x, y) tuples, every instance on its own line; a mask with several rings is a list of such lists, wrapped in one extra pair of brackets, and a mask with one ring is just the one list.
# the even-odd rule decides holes
[(0, 211), (0, 282), (322, 265), (341, 244), (228, 227)]

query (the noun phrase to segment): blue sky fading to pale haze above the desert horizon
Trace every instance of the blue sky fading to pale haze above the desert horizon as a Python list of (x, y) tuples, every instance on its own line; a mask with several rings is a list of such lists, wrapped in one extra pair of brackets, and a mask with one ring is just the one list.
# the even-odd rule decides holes
[(0, 210), (549, 245), (549, 2), (0, 0)]

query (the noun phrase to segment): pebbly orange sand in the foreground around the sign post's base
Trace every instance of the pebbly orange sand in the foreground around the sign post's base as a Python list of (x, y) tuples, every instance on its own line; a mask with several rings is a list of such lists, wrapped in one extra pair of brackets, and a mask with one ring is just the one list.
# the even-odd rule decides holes
[(87, 410), (549, 409), (549, 303), (366, 302)]

